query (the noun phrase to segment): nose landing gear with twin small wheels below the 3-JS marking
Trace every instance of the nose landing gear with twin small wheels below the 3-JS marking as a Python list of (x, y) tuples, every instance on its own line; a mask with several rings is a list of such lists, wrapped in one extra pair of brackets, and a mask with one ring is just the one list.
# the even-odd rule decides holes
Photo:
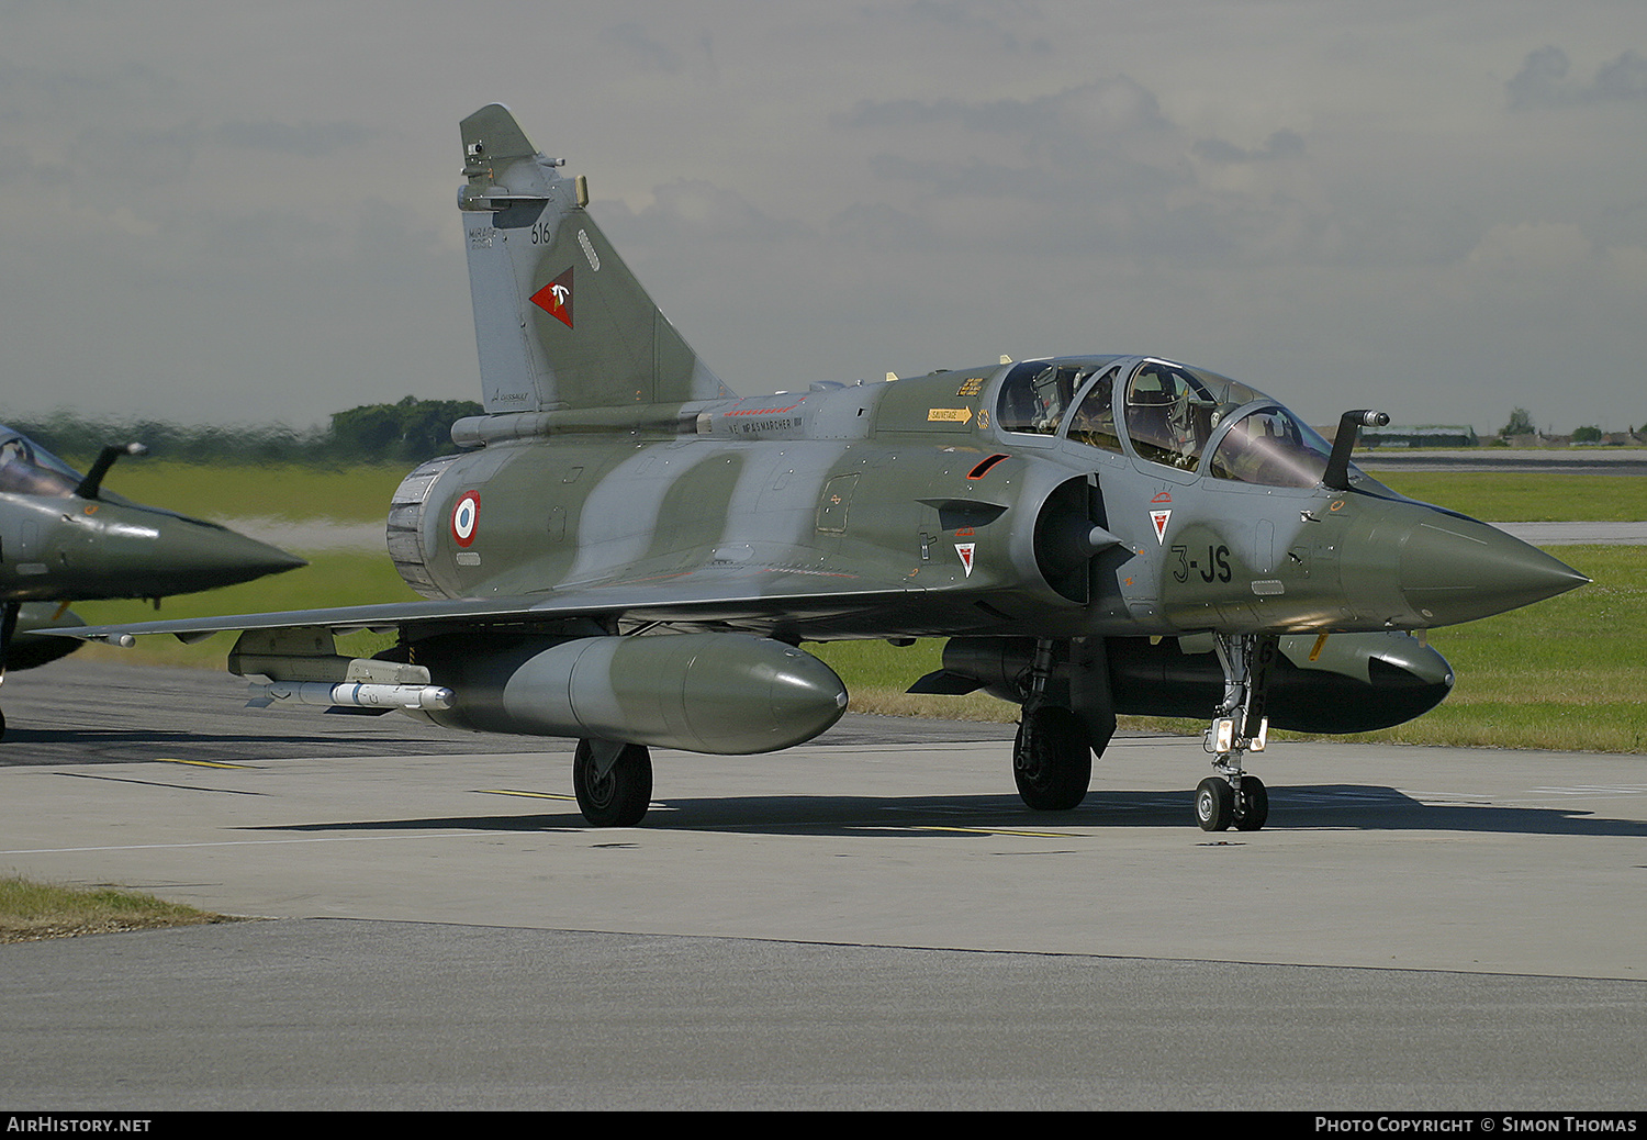
[(1204, 832), (1255, 832), (1270, 819), (1270, 792), (1263, 781), (1242, 771), (1242, 756), (1263, 751), (1270, 720), (1263, 715), (1275, 634), (1212, 634), (1224, 666), (1224, 702), (1202, 738), (1217, 776), (1196, 787), (1196, 822)]

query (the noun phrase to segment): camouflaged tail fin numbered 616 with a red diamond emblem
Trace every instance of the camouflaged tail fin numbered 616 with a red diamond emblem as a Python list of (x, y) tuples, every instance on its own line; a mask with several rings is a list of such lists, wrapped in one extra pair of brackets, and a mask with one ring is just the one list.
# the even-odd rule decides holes
[(730, 395), (698, 361), (507, 107), (463, 120), (458, 193), (488, 412)]

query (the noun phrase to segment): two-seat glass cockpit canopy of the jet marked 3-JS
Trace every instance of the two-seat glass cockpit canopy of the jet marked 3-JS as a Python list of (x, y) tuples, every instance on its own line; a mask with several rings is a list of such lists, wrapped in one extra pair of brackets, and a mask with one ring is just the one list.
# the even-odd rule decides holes
[(1168, 361), (1028, 361), (1006, 376), (1005, 432), (1064, 437), (1217, 479), (1309, 488), (1332, 446), (1263, 392)]

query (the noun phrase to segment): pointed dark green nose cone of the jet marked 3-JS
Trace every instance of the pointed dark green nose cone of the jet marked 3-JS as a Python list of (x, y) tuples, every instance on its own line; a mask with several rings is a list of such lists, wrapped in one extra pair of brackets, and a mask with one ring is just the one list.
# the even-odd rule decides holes
[(1400, 590), (1433, 626), (1491, 618), (1589, 578), (1497, 527), (1431, 511), (1402, 539)]

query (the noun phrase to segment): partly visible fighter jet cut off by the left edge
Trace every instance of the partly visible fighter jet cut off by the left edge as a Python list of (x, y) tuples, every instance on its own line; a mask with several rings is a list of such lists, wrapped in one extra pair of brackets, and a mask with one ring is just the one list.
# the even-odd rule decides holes
[[(122, 455), (110, 445), (81, 474), (26, 435), (0, 425), (0, 680), (79, 642), (43, 636), (84, 624), (71, 601), (153, 598), (250, 582), (306, 565), (283, 550), (102, 489)], [(5, 717), (0, 715), (0, 736)]]

